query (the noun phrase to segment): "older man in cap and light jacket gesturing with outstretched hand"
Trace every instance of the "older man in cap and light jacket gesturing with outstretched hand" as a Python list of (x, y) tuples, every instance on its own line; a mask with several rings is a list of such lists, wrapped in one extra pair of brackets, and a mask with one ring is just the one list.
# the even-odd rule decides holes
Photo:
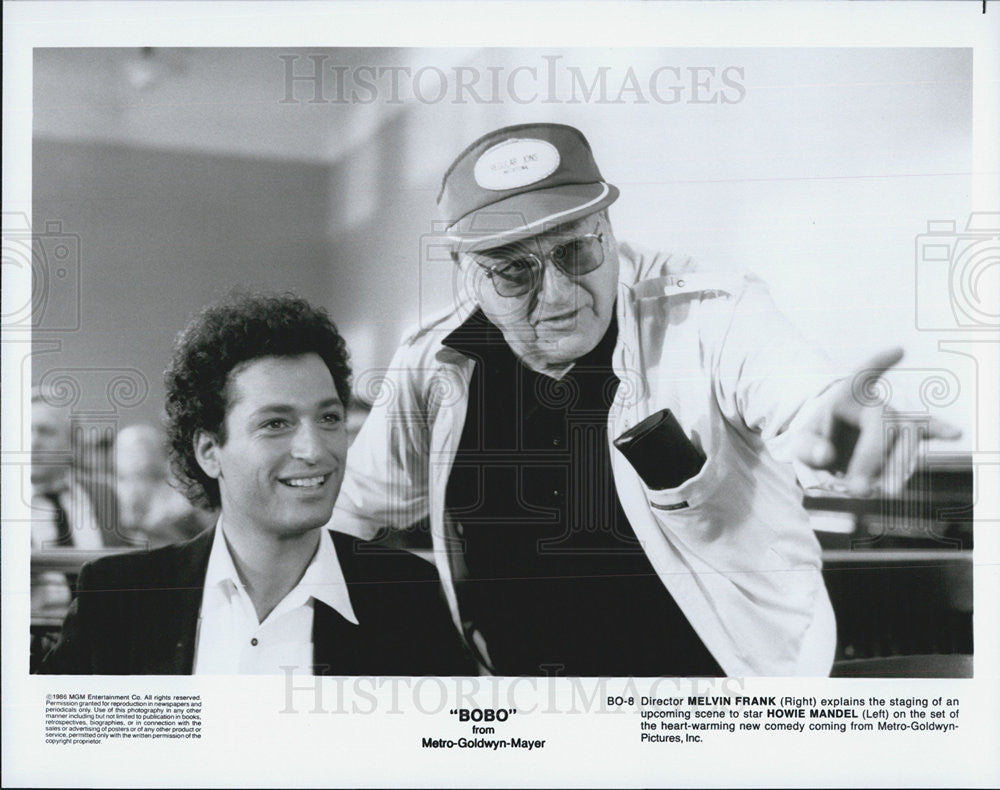
[(796, 472), (893, 490), (912, 459), (759, 280), (619, 244), (617, 197), (568, 126), (458, 156), (438, 205), (465, 298), (404, 339), (333, 524), (429, 520), (496, 674), (826, 675)]

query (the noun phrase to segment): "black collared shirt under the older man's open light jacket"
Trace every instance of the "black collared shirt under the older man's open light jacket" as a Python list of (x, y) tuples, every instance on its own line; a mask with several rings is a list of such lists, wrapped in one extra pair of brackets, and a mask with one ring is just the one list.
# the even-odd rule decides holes
[(618, 327), (561, 380), (477, 311), (445, 341), (475, 359), (446, 506), (462, 525), (464, 621), (501, 675), (721, 676), (636, 539), (611, 472)]

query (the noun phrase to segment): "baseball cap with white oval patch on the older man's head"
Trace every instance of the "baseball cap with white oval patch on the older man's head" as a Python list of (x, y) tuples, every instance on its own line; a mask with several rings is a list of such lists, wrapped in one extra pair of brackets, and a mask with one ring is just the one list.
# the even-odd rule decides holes
[(542, 233), (617, 199), (579, 129), (528, 123), (497, 129), (462, 151), (444, 174), (437, 204), (448, 239), (473, 251)]

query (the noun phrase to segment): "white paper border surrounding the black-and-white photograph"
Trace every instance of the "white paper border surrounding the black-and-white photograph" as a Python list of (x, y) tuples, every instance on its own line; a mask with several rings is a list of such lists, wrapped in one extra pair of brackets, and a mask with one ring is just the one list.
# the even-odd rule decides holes
[[(1000, 6), (990, 3), (322, 3), (322, 2), (31, 2), (4, 6), (4, 210), (31, 209), (31, 51), (36, 46), (945, 46), (974, 49), (975, 133), (972, 205), (997, 210), (1000, 124)], [(5, 303), (18, 298), (5, 293)], [(3, 382), (22, 370), (25, 346), (6, 342)], [(997, 375), (997, 371), (981, 371)], [(4, 393), (3, 446), (17, 447), (23, 408)], [(14, 392), (16, 394), (16, 390)], [(20, 413), (19, 413), (20, 412)], [(997, 437), (988, 437), (997, 448)], [(988, 454), (995, 462), (994, 453)], [(986, 456), (982, 460), (989, 460)], [(984, 481), (979, 518), (997, 517), (996, 478)], [(4, 485), (7, 485), (5, 480)], [(16, 497), (4, 497), (4, 502)], [(12, 515), (4, 504), (4, 518)], [(15, 512), (13, 515), (17, 515)], [(998, 536), (980, 530), (976, 546), (976, 679), (923, 683), (856, 681), (859, 695), (954, 694), (963, 700), (963, 731), (953, 740), (914, 736), (852, 741), (746, 741), (736, 748), (654, 752), (633, 746), (635, 724), (609, 715), (562, 717), (539, 725), (555, 737), (548, 751), (523, 755), (435, 753), (410, 748), (414, 733), (448, 728), (443, 714), (378, 716), (274, 715), (283, 688), (232, 679), (201, 684), (206, 705), (225, 710), (207, 723), (206, 739), (186, 749), (83, 751), (40, 746), (38, 706), (45, 691), (79, 683), (26, 675), (27, 546), (3, 531), (3, 758), (5, 784), (149, 786), (438, 785), (921, 785), (996, 786), (1000, 766), (1000, 600)], [(24, 536), (22, 536), (24, 537)], [(26, 540), (26, 538), (25, 538)], [(187, 679), (145, 683), (147, 690), (190, 688)], [(470, 681), (471, 682), (471, 681)], [(512, 694), (516, 680), (479, 684), (475, 700), (487, 705), (497, 689)], [(134, 689), (131, 679), (103, 688)], [(796, 684), (817, 693), (845, 693), (833, 681)], [(460, 694), (471, 686), (447, 689)], [(522, 684), (531, 695), (531, 686)], [(747, 682), (746, 690), (788, 690), (779, 680)], [(542, 684), (563, 699), (566, 684)], [(520, 689), (517, 689), (518, 691)], [(919, 691), (915, 691), (919, 690)], [(385, 689), (376, 694), (384, 700)], [(350, 696), (350, 695), (349, 695)], [(355, 694), (355, 702), (365, 696)], [(429, 717), (429, 718), (428, 718)], [(524, 733), (530, 734), (530, 733)], [(405, 747), (404, 747), (405, 744)]]

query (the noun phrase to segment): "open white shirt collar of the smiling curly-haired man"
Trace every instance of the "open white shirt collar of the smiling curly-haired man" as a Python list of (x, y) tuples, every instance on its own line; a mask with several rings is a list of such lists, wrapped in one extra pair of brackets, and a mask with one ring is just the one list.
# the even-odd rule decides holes
[[(212, 549), (208, 555), (205, 589), (219, 590), (225, 594), (225, 599), (228, 600), (230, 596), (236, 594), (243, 587), (243, 582), (240, 581), (240, 576), (236, 572), (236, 565), (233, 563), (233, 557), (223, 531), (223, 518), (219, 516), (215, 536), (212, 538)], [(337, 549), (333, 545), (333, 538), (326, 529), (321, 531), (319, 546), (309, 561), (309, 565), (306, 566), (305, 573), (302, 574), (299, 583), (289, 591), (288, 595), (275, 607), (275, 610), (299, 606), (312, 598), (322, 601), (337, 611), (345, 620), (355, 625), (359, 624), (358, 618), (354, 614), (354, 607), (351, 606), (351, 597), (347, 591), (344, 571), (340, 567), (340, 560), (337, 559)], [(223, 602), (216, 599), (216, 605), (221, 605)]]

